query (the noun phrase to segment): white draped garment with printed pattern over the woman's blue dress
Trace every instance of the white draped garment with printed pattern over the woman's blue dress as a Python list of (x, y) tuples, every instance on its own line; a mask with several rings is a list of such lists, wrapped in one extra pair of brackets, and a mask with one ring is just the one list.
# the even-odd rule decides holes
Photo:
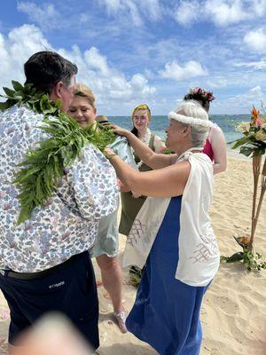
[[(213, 165), (206, 154), (192, 154), (191, 151), (179, 157), (178, 161), (181, 160), (190, 162), (191, 171), (182, 196), (179, 261), (175, 277), (190, 286), (207, 286), (220, 264), (219, 249), (208, 215), (213, 197)], [(146, 199), (129, 232), (124, 266), (144, 266), (170, 200)]]

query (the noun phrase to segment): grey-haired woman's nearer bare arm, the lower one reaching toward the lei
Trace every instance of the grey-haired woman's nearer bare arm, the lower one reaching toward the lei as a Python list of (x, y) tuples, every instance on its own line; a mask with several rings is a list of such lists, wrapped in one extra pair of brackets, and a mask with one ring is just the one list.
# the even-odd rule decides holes
[(191, 170), (189, 162), (178, 162), (160, 170), (139, 172), (114, 154), (110, 162), (122, 183), (128, 185), (131, 191), (154, 197), (181, 195)]

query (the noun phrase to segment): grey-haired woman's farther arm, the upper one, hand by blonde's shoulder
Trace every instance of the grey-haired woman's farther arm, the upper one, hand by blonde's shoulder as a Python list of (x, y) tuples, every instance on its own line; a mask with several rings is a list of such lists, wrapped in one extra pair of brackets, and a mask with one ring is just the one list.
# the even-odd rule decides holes
[(149, 146), (146, 146), (145, 143), (138, 139), (129, 130), (124, 130), (114, 124), (112, 124), (112, 127), (114, 133), (129, 139), (129, 144), (133, 147), (137, 156), (152, 169), (165, 168), (175, 162), (177, 157), (176, 154), (156, 154)]

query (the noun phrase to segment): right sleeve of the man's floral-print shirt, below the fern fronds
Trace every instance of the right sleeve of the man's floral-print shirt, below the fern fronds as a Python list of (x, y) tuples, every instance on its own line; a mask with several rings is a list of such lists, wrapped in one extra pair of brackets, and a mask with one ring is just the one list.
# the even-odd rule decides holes
[(74, 199), (82, 217), (100, 219), (117, 209), (118, 185), (115, 171), (106, 157), (94, 146), (82, 149), (74, 162)]

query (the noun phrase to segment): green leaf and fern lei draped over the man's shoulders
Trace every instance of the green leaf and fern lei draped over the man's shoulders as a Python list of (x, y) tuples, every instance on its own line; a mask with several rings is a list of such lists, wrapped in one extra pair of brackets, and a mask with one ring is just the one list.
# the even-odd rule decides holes
[(26, 106), (36, 114), (43, 114), (42, 127), (51, 138), (40, 141), (29, 150), (22, 167), (13, 180), (19, 185), (20, 216), (17, 225), (25, 222), (37, 206), (43, 206), (55, 191), (58, 180), (64, 176), (65, 167), (81, 155), (82, 147), (92, 143), (101, 152), (115, 139), (108, 127), (100, 130), (89, 126), (83, 129), (73, 118), (60, 110), (60, 100), (51, 101), (49, 96), (27, 83), (24, 86), (12, 81), (13, 90), (3, 88), (6, 99), (0, 103), (0, 110), (14, 105)]

